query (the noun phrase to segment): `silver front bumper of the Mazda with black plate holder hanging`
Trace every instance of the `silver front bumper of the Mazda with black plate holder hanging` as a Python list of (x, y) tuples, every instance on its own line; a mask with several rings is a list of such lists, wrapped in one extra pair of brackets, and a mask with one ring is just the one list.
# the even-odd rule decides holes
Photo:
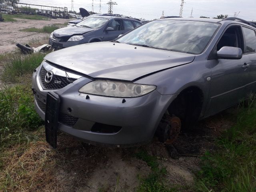
[[(37, 113), (44, 119), (46, 95), (33, 74), (32, 87)], [(52, 90), (60, 97), (58, 129), (90, 144), (133, 146), (152, 139), (169, 104), (176, 95), (158, 91), (137, 98), (111, 98), (81, 94), (78, 90), (92, 80), (81, 77), (68, 86)], [(89, 96), (89, 98), (86, 96)], [(110, 131), (109, 131), (110, 130)]]

